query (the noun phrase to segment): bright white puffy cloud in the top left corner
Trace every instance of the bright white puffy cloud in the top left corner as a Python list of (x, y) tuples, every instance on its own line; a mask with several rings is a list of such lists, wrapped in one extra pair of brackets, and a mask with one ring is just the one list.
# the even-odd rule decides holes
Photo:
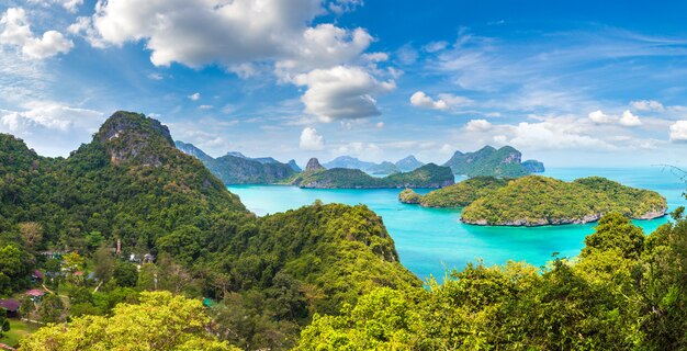
[(0, 19), (0, 45), (19, 47), (29, 58), (48, 58), (69, 53), (74, 47), (74, 43), (57, 31), (34, 36), (26, 11), (22, 8), (8, 9)]

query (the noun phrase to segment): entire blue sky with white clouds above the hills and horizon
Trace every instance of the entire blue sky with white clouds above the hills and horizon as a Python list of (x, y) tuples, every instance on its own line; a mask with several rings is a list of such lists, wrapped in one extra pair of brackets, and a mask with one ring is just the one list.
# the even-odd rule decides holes
[(5, 0), (0, 132), (66, 156), (116, 110), (210, 155), (684, 165), (684, 1)]

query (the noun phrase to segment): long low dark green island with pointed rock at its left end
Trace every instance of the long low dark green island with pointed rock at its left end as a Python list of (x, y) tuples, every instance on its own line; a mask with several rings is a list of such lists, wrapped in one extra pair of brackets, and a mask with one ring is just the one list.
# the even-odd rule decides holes
[(427, 163), (410, 172), (375, 178), (359, 169), (326, 169), (313, 158), (307, 162), (305, 171), (296, 174), (288, 183), (308, 189), (436, 189), (453, 184), (454, 177), (448, 167)]

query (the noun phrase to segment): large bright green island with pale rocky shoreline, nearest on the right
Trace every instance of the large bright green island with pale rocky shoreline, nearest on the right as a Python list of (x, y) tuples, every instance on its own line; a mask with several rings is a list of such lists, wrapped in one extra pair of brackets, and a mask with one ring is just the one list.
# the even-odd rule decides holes
[(663, 216), (665, 197), (649, 190), (589, 177), (564, 182), (528, 176), (509, 181), (463, 208), (461, 220), (480, 225), (539, 226), (588, 223), (617, 212), (635, 219)]

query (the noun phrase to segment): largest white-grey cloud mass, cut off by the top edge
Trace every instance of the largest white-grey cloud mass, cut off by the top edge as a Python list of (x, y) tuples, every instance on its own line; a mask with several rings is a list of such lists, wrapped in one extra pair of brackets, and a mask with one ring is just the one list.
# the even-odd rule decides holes
[(144, 41), (156, 66), (219, 64), (246, 73), (246, 63), (279, 61), (280, 70), (304, 71), (357, 58), (372, 41), (362, 29), (308, 26), (323, 10), (322, 0), (101, 0), (93, 32), (81, 32), (101, 45)]

